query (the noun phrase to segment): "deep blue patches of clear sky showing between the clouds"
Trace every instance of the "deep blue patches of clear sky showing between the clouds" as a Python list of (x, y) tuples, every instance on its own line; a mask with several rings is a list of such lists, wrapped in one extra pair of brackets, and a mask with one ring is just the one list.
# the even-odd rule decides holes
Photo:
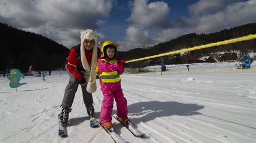
[[(187, 7), (191, 4), (197, 2), (198, 0), (174, 0), (174, 1), (163, 1), (168, 3), (168, 5), (173, 5), (174, 7), (169, 12), (170, 19), (166, 21), (175, 22), (176, 19), (180, 17), (189, 17), (189, 12)], [(109, 37), (116, 40), (122, 40), (125, 38), (125, 30), (129, 27), (129, 22), (126, 21), (130, 17), (131, 9), (129, 7), (129, 2), (131, 1), (118, 1), (116, 6), (112, 8), (111, 17), (107, 19), (106, 25), (102, 25), (100, 30), (102, 32), (108, 33)], [(157, 1), (147, 1), (147, 3), (157, 2)], [(159, 1), (161, 2), (161, 1)], [(115, 25), (114, 27), (111, 25)], [(119, 30), (116, 30), (119, 29)], [(151, 29), (152, 30), (152, 29)]]

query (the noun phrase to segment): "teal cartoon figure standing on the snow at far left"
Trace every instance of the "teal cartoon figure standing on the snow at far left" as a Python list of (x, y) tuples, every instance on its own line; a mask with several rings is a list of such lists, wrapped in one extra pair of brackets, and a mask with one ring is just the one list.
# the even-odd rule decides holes
[(7, 78), (11, 81), (9, 86), (11, 88), (18, 88), (19, 86), (27, 83), (19, 83), (19, 80), (21, 80), (21, 77), (24, 78), (24, 75), (19, 72), (17, 69), (11, 69), (10, 75), (7, 76)]

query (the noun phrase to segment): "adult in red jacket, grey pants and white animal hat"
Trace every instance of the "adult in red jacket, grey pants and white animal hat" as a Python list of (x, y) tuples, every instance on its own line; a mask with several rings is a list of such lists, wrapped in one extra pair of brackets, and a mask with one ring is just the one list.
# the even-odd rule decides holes
[(100, 57), (100, 49), (97, 48), (97, 32), (86, 29), (80, 32), (81, 44), (72, 47), (67, 58), (66, 70), (70, 80), (65, 89), (62, 100), (62, 111), (58, 118), (63, 124), (68, 121), (68, 114), (75, 98), (78, 86), (82, 88), (83, 103), (89, 116), (93, 116), (92, 93), (96, 91), (96, 64)]

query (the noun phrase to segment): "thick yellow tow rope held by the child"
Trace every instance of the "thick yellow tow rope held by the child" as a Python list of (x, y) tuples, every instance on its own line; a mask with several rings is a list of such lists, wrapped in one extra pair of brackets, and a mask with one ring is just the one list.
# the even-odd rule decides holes
[(128, 60), (125, 63), (137, 62), (139, 60), (163, 57), (163, 56), (166, 56), (166, 55), (178, 54), (178, 53), (182, 53), (182, 52), (188, 52), (188, 51), (191, 51), (191, 50), (210, 48), (210, 47), (214, 47), (214, 46), (218, 46), (218, 45), (225, 45), (225, 44), (236, 43), (236, 42), (241, 42), (241, 41), (244, 41), (244, 40), (252, 40), (252, 39), (256, 39), (256, 34), (250, 34), (250, 35), (247, 35), (247, 36), (244, 36), (244, 37), (224, 40), (224, 41), (210, 43), (210, 44), (205, 44), (205, 45), (199, 45), (199, 46), (195, 46), (195, 47), (191, 47), (191, 48), (186, 48), (186, 49), (175, 50), (175, 51), (168, 52), (168, 53), (163, 53), (163, 54), (158, 54), (158, 55), (151, 55), (149, 57)]

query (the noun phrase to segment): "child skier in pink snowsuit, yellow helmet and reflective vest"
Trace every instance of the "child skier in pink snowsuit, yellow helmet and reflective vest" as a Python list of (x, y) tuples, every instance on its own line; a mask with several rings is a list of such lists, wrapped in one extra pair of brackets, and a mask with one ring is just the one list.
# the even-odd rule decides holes
[(98, 60), (96, 73), (100, 76), (102, 101), (100, 121), (106, 130), (112, 130), (112, 110), (114, 99), (117, 105), (117, 116), (125, 125), (129, 125), (127, 117), (127, 101), (122, 93), (120, 74), (124, 73), (125, 60), (117, 62), (118, 44), (106, 41), (101, 46), (101, 57)]

